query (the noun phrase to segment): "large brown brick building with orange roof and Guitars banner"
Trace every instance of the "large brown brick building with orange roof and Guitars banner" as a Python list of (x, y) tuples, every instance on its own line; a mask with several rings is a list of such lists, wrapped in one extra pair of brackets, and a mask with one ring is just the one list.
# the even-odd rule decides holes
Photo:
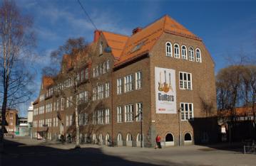
[[(157, 134), (165, 146), (215, 140), (217, 121), (201, 106), (203, 99), (216, 110), (215, 64), (198, 36), (163, 16), (130, 36), (95, 31), (90, 49), (78, 60), (75, 96), (67, 91), (77, 58), (63, 56), (57, 76), (63, 81), (42, 78), (34, 101), (34, 138), (72, 135), (71, 101), (77, 101), (79, 110), (88, 106), (78, 118), (83, 141), (140, 146), (142, 140), (152, 146)], [(60, 89), (65, 96), (56, 95)]]

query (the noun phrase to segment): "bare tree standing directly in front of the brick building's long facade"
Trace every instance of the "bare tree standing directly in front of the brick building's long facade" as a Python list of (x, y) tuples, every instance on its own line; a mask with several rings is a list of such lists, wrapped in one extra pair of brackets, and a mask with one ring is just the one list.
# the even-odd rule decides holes
[[(76, 147), (80, 147), (80, 126), (83, 122), (86, 123), (83, 131), (88, 133), (88, 137), (91, 137), (93, 131), (102, 128), (102, 126), (96, 125), (96, 116), (93, 114), (96, 113), (97, 109), (103, 108), (101, 101), (93, 101), (91, 85), (93, 78), (90, 77), (93, 50), (81, 39), (68, 39), (58, 50), (53, 51), (54, 53), (51, 55), (53, 62), (59, 56), (55, 52), (62, 52), (60, 50), (63, 50), (63, 48), (69, 52), (68, 55), (63, 55), (63, 58), (61, 58), (61, 70), (57, 75), (54, 76), (55, 71), (51, 72), (51, 67), (45, 67), (48, 70), (47, 72), (54, 76), (54, 86), (58, 87), (54, 90), (56, 98), (65, 99), (68, 102), (68, 109), (74, 110), (73, 117), (75, 121), (67, 132), (75, 133)], [(64, 88), (60, 88), (62, 86), (58, 86), (59, 84), (64, 84)], [(60, 111), (58, 111), (58, 114), (60, 114)], [(85, 114), (86, 117), (82, 119), (81, 116), (85, 116)]]

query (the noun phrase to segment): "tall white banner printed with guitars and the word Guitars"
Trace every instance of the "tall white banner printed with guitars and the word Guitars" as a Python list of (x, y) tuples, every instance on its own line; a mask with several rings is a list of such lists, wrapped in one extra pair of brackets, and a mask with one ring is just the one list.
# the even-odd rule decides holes
[(175, 70), (155, 67), (155, 106), (157, 114), (176, 114)]

